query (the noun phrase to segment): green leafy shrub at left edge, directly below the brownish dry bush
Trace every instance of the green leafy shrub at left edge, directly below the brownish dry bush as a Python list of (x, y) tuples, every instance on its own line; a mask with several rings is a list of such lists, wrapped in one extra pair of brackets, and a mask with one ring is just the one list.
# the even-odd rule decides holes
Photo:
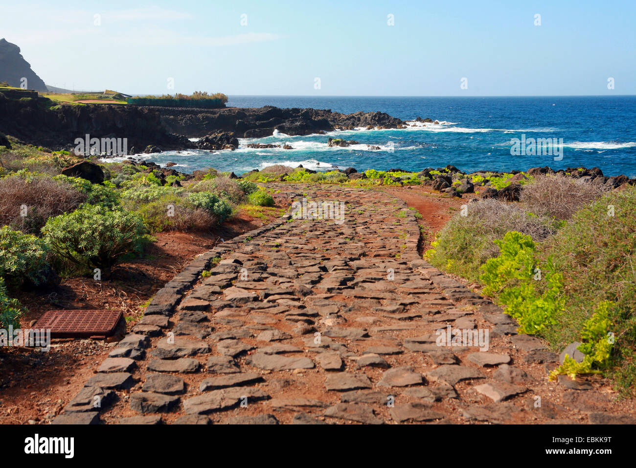
[(47, 248), (43, 241), (31, 234), (0, 228), (0, 277), (13, 286), (30, 280), (36, 285), (46, 278)]

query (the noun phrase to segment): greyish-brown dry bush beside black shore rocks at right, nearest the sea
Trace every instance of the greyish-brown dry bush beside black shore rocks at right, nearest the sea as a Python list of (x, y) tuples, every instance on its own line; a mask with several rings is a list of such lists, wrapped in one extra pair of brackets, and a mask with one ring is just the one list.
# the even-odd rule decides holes
[(564, 176), (536, 176), (525, 185), (520, 201), (543, 216), (567, 220), (586, 204), (600, 197), (607, 189), (579, 179)]

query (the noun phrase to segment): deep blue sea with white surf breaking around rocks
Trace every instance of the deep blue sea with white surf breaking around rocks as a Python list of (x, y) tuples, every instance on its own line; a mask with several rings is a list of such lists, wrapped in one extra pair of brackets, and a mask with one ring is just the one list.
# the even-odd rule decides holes
[[(237, 174), (285, 164), (317, 170), (356, 167), (419, 171), (453, 164), (462, 171), (523, 171), (530, 167), (600, 167), (605, 175), (636, 177), (636, 96), (590, 97), (303, 97), (230, 96), (228, 106), (382, 111), (402, 120), (432, 118), (439, 124), (408, 129), (335, 131), (328, 135), (240, 139), (239, 149), (142, 155), (158, 164), (176, 162), (190, 173), (215, 167)], [(359, 145), (329, 148), (327, 139)], [(562, 159), (511, 155), (512, 139), (563, 139)], [(558, 140), (557, 140), (558, 141)], [(291, 145), (293, 150), (251, 149), (248, 143)], [(368, 150), (367, 145), (380, 146)], [(557, 157), (558, 159), (558, 157)]]

